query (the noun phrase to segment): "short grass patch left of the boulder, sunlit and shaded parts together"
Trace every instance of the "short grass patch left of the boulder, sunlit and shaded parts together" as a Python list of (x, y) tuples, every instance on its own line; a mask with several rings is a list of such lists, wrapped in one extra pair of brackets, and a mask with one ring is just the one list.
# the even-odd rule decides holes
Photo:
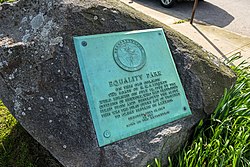
[(0, 101), (0, 167), (61, 167)]

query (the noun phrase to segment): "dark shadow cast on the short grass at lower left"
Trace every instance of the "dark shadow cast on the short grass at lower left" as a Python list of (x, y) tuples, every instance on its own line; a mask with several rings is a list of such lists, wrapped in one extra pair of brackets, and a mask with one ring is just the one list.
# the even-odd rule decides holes
[(17, 123), (0, 142), (1, 167), (62, 167), (62, 165)]

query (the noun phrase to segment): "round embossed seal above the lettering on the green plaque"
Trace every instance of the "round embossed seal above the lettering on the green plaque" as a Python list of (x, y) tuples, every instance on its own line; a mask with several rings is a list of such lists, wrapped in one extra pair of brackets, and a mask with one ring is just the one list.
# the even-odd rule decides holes
[(140, 70), (146, 64), (146, 53), (142, 45), (133, 39), (118, 41), (113, 49), (116, 64), (126, 71)]

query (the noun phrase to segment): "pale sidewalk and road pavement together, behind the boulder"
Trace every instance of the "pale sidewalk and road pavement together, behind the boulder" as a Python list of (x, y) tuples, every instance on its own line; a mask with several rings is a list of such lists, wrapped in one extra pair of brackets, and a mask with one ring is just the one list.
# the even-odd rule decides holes
[(194, 2), (179, 2), (164, 8), (160, 0), (121, 0), (134, 9), (168, 25), (187, 36), (222, 61), (233, 54), (250, 62), (250, 0), (199, 1), (194, 24), (191, 17)]

